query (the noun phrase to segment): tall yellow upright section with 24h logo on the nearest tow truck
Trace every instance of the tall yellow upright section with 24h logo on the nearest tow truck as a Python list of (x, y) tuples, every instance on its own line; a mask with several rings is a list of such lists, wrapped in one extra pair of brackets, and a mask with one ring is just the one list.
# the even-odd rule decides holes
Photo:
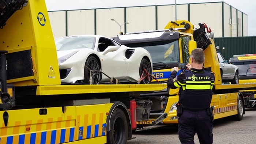
[[(1, 6), (4, 4), (4, 10), (10, 11), (7, 8), (11, 4), (1, 0)], [(57, 52), (45, 1), (29, 0), (10, 18), (5, 15), (1, 16), (1, 24), (5, 21), (6, 24), (0, 29), (0, 50), (8, 51), (7, 83), (15, 86), (60, 84)]]

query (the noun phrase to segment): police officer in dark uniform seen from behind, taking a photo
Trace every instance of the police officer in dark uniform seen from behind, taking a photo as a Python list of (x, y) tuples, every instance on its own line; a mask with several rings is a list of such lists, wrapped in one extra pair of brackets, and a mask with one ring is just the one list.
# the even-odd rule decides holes
[(200, 144), (212, 144), (213, 114), (210, 103), (215, 77), (203, 69), (203, 49), (192, 50), (190, 57), (191, 65), (187, 64), (187, 71), (176, 76), (178, 67), (174, 67), (167, 81), (169, 88), (180, 88), (176, 105), (178, 136), (182, 144), (194, 144), (196, 132)]

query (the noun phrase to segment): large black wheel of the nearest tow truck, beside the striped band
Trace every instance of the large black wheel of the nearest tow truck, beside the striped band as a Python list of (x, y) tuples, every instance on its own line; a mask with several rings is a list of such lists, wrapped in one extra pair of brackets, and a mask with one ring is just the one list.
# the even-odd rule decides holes
[(127, 139), (128, 124), (125, 114), (121, 109), (115, 109), (110, 117), (107, 142), (108, 144), (125, 144)]

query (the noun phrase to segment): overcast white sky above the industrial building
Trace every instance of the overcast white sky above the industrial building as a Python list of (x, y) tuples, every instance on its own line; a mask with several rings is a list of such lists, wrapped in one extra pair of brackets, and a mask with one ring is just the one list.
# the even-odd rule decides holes
[[(177, 4), (224, 1), (248, 15), (248, 36), (256, 36), (256, 0), (176, 0)], [(48, 11), (174, 4), (175, 0), (45, 0)], [(214, 9), (209, 11), (214, 13)]]

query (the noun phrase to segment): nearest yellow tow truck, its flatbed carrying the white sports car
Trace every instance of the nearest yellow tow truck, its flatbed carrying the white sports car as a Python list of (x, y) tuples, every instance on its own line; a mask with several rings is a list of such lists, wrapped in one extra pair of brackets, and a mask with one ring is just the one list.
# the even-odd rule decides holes
[(45, 1), (0, 0), (0, 14), (0, 144), (132, 139), (137, 98), (166, 84), (62, 85)]

